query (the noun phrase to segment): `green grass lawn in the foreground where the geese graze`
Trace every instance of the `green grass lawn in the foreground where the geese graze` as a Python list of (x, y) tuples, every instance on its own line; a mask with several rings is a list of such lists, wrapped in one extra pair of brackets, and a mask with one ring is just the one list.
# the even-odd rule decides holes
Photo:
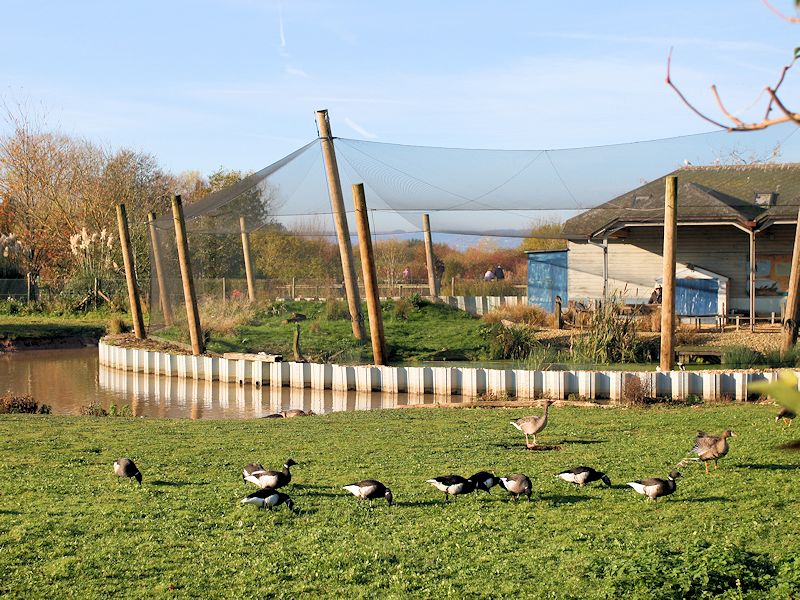
[[(532, 452), (522, 410), (417, 409), (291, 420), (0, 417), (0, 595), (38, 597), (790, 598), (800, 594), (798, 434), (774, 407), (551, 409)], [(698, 429), (738, 436), (719, 471), (682, 469)], [(144, 485), (111, 464), (133, 458)], [(298, 463), (292, 515), (242, 506), (251, 461)], [(554, 477), (587, 464), (613, 487)], [(425, 480), (527, 473), (533, 502), (445, 504)], [(341, 489), (377, 478), (396, 505)], [(596, 485), (596, 484), (595, 484)], [(738, 583), (737, 583), (738, 582)], [(737, 587), (738, 586), (738, 587)], [(705, 594), (705, 595), (704, 595)]]

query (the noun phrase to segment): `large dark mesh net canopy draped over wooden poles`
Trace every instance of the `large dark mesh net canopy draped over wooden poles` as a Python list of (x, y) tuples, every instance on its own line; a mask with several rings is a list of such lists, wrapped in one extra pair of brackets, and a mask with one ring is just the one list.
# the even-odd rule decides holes
[[(516, 295), (535, 302), (539, 294), (550, 307), (555, 295), (565, 304), (611, 293), (646, 302), (660, 276), (663, 181), (674, 174), (678, 278), (700, 282), (692, 285), (704, 290), (701, 302), (717, 294), (716, 306), (703, 307), (712, 313), (749, 306), (754, 230), (765, 242), (758, 260), (772, 261), (763, 266), (769, 282), (762, 300), (780, 301), (782, 261), (791, 246), (778, 242), (793, 237), (793, 226), (790, 233), (780, 227), (788, 218), (794, 222), (800, 197), (797, 129), (785, 124), (747, 134), (717, 131), (557, 150), (347, 138), (333, 138), (333, 145), (354, 247), (351, 187), (364, 186), (383, 296), (427, 293), (422, 223), (428, 214), (443, 295)], [(257, 299), (344, 296), (321, 139), (227, 189), (185, 202), (184, 211), (201, 316), (204, 306), (247, 296), (242, 231)], [(153, 259), (162, 277), (159, 284), (152, 269), (150, 327), (159, 329), (185, 321), (185, 311), (172, 214), (154, 225)], [(354, 257), (358, 265), (357, 249)], [(485, 281), (498, 263), (505, 269), (502, 287), (496, 279)], [(361, 279), (360, 266), (356, 270)], [(537, 288), (537, 273), (544, 289)], [(764, 302), (766, 310), (771, 305)]]

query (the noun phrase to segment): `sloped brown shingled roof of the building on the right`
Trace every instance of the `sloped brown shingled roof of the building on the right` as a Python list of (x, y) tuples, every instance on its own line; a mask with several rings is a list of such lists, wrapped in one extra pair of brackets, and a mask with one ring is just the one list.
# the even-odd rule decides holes
[[(683, 167), (678, 178), (678, 221), (745, 223), (792, 220), (800, 207), (800, 164)], [(756, 194), (774, 193), (771, 207)], [(586, 239), (627, 223), (663, 223), (664, 178), (617, 196), (564, 223), (568, 239)]]

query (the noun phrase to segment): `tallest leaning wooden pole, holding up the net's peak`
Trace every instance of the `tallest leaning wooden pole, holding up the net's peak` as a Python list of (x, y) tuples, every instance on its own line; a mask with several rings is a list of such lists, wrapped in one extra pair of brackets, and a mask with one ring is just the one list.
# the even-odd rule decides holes
[(353, 245), (350, 243), (350, 231), (347, 225), (347, 213), (344, 210), (342, 183), (339, 180), (339, 166), (336, 164), (336, 151), (333, 147), (328, 111), (317, 111), (317, 126), (322, 144), (322, 156), (325, 159), (325, 172), (328, 175), (328, 195), (333, 209), (333, 221), (336, 224), (336, 237), (339, 240), (339, 256), (342, 261), (344, 289), (347, 295), (347, 306), (353, 324), (353, 337), (364, 341), (364, 317), (361, 314), (361, 298), (358, 293), (358, 278), (353, 265)]

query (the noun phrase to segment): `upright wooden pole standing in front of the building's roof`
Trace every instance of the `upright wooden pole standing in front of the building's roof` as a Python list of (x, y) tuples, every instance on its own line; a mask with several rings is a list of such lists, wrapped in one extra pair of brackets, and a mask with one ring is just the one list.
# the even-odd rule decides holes
[(661, 291), (661, 370), (675, 361), (675, 250), (678, 234), (678, 178), (667, 177), (664, 190), (664, 274)]

